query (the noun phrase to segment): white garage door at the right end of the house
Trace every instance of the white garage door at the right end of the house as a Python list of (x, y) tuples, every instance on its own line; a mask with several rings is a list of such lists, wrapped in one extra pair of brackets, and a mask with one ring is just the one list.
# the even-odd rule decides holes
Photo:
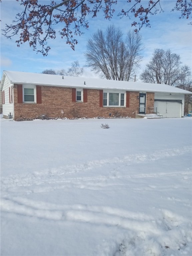
[(172, 101), (155, 101), (154, 107), (163, 117), (181, 117), (181, 103)]

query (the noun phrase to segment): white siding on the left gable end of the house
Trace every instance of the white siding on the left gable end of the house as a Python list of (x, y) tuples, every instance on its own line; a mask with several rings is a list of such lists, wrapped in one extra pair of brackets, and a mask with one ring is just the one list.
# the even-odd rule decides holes
[(2, 91), (5, 92), (5, 104), (3, 104), (3, 115), (7, 116), (11, 112), (11, 115), (13, 115), (13, 103), (9, 103), (9, 87), (13, 86), (11, 84), (10, 80), (5, 76), (5, 81), (3, 84)]

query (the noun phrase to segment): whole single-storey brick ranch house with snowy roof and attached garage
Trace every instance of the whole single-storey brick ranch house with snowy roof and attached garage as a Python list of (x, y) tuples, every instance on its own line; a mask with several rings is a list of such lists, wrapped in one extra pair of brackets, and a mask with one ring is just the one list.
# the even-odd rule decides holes
[(4, 118), (182, 117), (191, 92), (163, 84), (4, 71)]

